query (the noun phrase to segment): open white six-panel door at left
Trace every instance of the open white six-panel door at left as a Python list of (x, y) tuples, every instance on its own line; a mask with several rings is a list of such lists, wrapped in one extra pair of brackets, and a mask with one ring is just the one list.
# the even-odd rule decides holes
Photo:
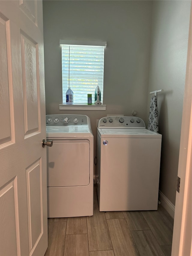
[(0, 1), (0, 21), (0, 255), (44, 255), (42, 1)]

